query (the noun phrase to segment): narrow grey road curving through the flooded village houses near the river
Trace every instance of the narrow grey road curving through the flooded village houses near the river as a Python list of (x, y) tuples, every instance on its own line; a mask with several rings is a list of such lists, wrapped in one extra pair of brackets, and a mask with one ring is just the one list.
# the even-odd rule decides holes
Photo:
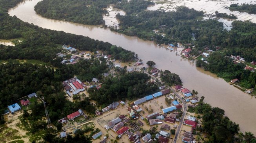
[[(145, 71), (143, 71), (144, 73), (146, 73)], [(150, 75), (149, 73), (146, 73), (147, 75), (149, 75), (151, 78), (153, 78), (154, 80), (156, 80), (156, 78), (153, 76), (153, 75)], [(164, 84), (161, 80), (159, 80), (159, 82), (161, 84)], [(166, 85), (167, 86), (167, 85)], [(169, 89), (171, 89), (171, 91), (176, 95), (176, 97), (178, 97), (180, 99), (180, 101), (182, 101), (182, 104), (183, 104), (183, 107), (184, 107), (184, 110), (183, 110), (183, 114), (182, 114), (182, 118), (180, 120), (180, 124), (178, 126), (178, 129), (176, 130), (176, 135), (175, 135), (175, 138), (174, 138), (174, 143), (176, 143), (176, 140), (178, 138), (178, 135), (180, 133), (180, 129), (182, 127), (182, 123), (183, 123), (183, 120), (185, 118), (185, 115), (187, 114), (187, 102), (185, 102), (182, 97), (180, 97), (180, 95), (174, 90), (172, 89), (170, 86), (167, 86)]]

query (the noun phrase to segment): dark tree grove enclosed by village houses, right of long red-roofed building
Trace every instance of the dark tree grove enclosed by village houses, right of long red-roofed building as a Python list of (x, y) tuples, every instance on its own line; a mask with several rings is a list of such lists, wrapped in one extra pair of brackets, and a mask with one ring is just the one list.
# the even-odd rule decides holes
[(132, 72), (120, 74), (103, 80), (100, 89), (90, 88), (88, 93), (91, 99), (105, 105), (112, 103), (113, 99), (141, 98), (158, 91), (158, 86), (148, 82), (149, 79), (150, 77), (145, 73)]

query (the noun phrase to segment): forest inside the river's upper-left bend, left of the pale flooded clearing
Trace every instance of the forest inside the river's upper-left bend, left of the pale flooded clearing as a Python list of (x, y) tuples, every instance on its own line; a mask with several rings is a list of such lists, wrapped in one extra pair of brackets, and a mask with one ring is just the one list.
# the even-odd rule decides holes
[(72, 21), (87, 25), (105, 24), (102, 14), (107, 14), (109, 4), (119, 0), (42, 0), (36, 4), (36, 13), (52, 19)]

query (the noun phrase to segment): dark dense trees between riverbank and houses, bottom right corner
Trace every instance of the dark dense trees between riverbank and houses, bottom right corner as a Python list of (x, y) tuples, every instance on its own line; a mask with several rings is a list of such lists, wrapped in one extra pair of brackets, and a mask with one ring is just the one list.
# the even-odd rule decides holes
[(245, 134), (239, 132), (239, 125), (224, 116), (223, 109), (211, 107), (211, 105), (203, 103), (203, 100), (204, 97), (201, 97), (198, 106), (189, 107), (188, 111), (202, 114), (202, 116), (198, 116), (201, 118), (202, 126), (198, 126), (196, 131), (207, 134), (209, 140), (204, 143), (256, 143), (256, 138), (251, 132), (245, 132)]

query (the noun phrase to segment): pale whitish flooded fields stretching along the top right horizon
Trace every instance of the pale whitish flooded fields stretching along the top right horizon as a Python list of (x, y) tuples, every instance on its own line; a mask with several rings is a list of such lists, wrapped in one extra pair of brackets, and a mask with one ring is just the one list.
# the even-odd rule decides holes
[[(205, 14), (215, 14), (215, 11), (219, 13), (234, 14), (237, 20), (250, 20), (256, 23), (256, 15), (248, 13), (240, 13), (238, 11), (230, 11), (226, 9), (231, 4), (256, 4), (256, 1), (251, 0), (152, 0), (156, 4), (148, 7), (148, 10), (163, 10), (163, 11), (176, 11), (178, 6), (186, 6), (194, 8), (197, 11), (203, 11)], [(218, 20), (224, 23), (224, 28), (230, 30), (232, 28), (231, 23), (234, 20), (221, 19)]]

